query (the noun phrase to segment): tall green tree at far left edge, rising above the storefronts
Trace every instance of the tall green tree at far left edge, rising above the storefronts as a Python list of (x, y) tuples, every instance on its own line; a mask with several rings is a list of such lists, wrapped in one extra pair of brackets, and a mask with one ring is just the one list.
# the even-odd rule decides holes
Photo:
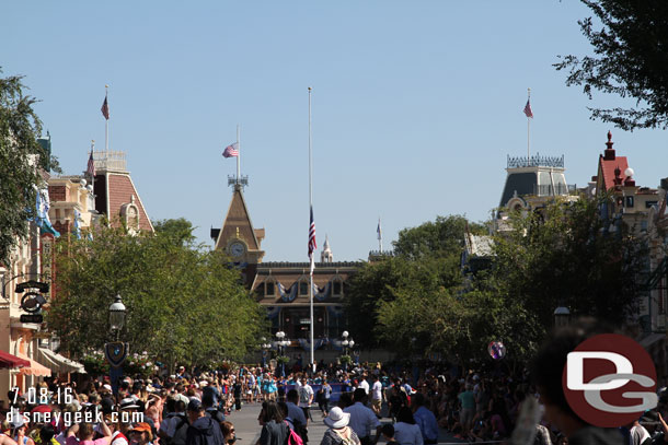
[[(0, 72), (2, 72), (0, 70)], [(22, 77), (0, 78), (0, 261), (27, 237), (27, 220), (35, 215), (42, 122), (33, 110), (36, 99), (24, 95)]]

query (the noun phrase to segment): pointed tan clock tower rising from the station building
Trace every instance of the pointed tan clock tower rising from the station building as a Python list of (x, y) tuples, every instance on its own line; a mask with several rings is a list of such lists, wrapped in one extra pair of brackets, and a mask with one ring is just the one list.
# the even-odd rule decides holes
[(250, 285), (264, 256), (261, 249), (264, 229), (253, 227), (242, 184), (233, 185), (234, 191), (222, 229), (211, 229), (211, 238), (216, 242), (215, 249), (224, 251), (243, 270)]

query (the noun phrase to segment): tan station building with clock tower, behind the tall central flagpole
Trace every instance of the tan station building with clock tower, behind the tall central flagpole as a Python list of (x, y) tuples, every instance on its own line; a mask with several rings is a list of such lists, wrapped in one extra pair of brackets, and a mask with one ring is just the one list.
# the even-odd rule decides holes
[[(263, 262), (264, 229), (255, 229), (241, 184), (233, 184), (232, 199), (220, 229), (211, 229), (215, 249), (226, 253), (238, 267), (247, 289), (266, 308), (272, 335), (283, 331), (292, 355), (310, 350), (309, 262)], [(322, 353), (341, 349), (346, 329), (343, 300), (347, 280), (359, 262), (334, 261), (329, 239), (313, 272), (314, 349)], [(276, 342), (273, 342), (276, 348)], [(332, 354), (326, 354), (332, 355)], [(321, 354), (322, 356), (322, 354)]]

